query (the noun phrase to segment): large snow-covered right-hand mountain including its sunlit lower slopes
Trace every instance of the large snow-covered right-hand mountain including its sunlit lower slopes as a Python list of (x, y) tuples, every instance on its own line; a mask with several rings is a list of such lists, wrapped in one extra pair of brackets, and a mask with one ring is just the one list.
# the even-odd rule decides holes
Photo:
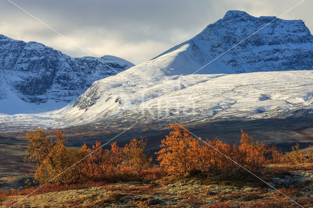
[(60, 110), (4, 115), (0, 121), (28, 119), (49, 126), (99, 120), (179, 122), (286, 116), (311, 109), (313, 71), (306, 70), (313, 69), (313, 36), (303, 21), (277, 19), (219, 57), (274, 19), (228, 11), (194, 38), (92, 83)]

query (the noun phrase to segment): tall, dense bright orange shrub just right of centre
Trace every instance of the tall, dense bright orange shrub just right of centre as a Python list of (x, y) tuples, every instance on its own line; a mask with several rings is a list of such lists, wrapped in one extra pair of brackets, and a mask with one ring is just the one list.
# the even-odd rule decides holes
[(232, 169), (234, 164), (224, 155), (233, 154), (233, 146), (217, 138), (206, 140), (194, 138), (184, 125), (170, 125), (173, 129), (161, 141), (157, 160), (169, 174), (191, 175), (200, 172), (221, 172)]

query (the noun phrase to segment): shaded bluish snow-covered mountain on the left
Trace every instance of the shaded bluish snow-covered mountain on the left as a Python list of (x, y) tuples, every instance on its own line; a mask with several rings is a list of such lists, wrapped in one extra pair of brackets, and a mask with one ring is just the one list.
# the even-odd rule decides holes
[(65, 106), (94, 81), (134, 66), (113, 56), (99, 59), (72, 58), (38, 42), (0, 35), (0, 113)]

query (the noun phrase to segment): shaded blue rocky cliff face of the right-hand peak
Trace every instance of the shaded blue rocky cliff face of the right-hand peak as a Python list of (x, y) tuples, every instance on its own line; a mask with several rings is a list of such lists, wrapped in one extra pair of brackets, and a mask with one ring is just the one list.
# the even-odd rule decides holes
[[(189, 44), (191, 58), (204, 65), (275, 19), (276, 17), (257, 18), (243, 11), (228, 11), (223, 19), (208, 25), (191, 40), (161, 55)], [(201, 69), (199, 73), (311, 69), (313, 36), (310, 30), (301, 20), (277, 19)]]

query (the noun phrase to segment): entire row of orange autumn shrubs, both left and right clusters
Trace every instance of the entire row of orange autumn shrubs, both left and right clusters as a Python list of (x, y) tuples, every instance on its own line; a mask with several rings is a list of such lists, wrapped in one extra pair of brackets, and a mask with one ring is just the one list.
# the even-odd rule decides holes
[[(25, 160), (37, 163), (36, 182), (45, 183), (60, 174), (53, 183), (72, 184), (158, 178), (164, 172), (185, 176), (238, 174), (243, 169), (236, 163), (257, 171), (265, 165), (280, 162), (282, 158), (274, 146), (255, 142), (244, 131), (240, 145), (231, 146), (217, 138), (205, 141), (194, 138), (183, 125), (171, 124), (170, 128), (170, 134), (161, 141), (161, 150), (156, 152), (160, 166), (153, 168), (152, 158), (145, 154), (147, 139), (133, 139), (123, 148), (112, 143), (110, 149), (105, 149), (100, 142), (92, 148), (86, 144), (81, 148), (69, 148), (61, 131), (54, 131), (53, 138), (50, 138), (38, 128), (26, 134), (29, 143)], [(297, 152), (298, 148), (294, 150)], [(289, 158), (291, 156), (295, 157), (295, 154), (290, 154)], [(77, 163), (83, 158), (84, 161)]]

